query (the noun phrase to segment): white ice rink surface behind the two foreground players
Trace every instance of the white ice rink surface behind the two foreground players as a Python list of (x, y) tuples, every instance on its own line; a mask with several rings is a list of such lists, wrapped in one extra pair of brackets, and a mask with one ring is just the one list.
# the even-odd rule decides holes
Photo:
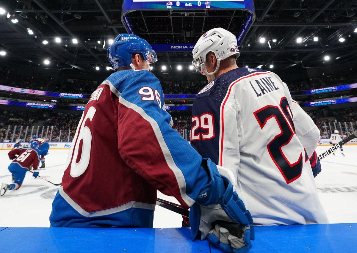
[[(318, 146), (317, 153), (329, 146)], [(316, 186), (330, 223), (357, 222), (357, 146), (344, 146), (346, 157), (340, 150), (336, 156), (321, 161), (322, 172)], [(0, 183), (10, 183), (11, 174), (8, 150), (0, 151)], [(53, 183), (60, 183), (68, 150), (50, 150), (46, 156), (46, 169), (40, 176)], [(7, 191), (0, 197), (0, 227), (49, 227), (52, 200), (59, 186), (26, 173), (24, 183), (17, 191)], [(158, 193), (159, 198), (178, 203), (175, 198)], [(181, 227), (180, 215), (156, 206), (154, 227)]]

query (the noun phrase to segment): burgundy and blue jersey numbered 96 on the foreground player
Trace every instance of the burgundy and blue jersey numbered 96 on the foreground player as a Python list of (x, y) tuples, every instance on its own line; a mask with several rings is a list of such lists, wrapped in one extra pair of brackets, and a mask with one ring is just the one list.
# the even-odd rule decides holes
[(109, 76), (77, 127), (51, 226), (152, 227), (157, 190), (190, 207), (208, 177), (172, 125), (150, 71)]

